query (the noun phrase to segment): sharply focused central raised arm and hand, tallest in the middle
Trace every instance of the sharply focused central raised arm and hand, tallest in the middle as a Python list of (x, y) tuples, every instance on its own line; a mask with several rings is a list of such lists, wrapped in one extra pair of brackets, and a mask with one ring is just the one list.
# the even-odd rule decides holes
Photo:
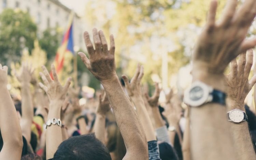
[(123, 159), (148, 159), (147, 141), (143, 127), (129, 98), (126, 96), (115, 70), (115, 43), (110, 36), (110, 50), (102, 31), (93, 29), (95, 49), (88, 32), (84, 33), (89, 59), (79, 52), (88, 70), (101, 82), (109, 98), (117, 125), (126, 144), (126, 155)]

